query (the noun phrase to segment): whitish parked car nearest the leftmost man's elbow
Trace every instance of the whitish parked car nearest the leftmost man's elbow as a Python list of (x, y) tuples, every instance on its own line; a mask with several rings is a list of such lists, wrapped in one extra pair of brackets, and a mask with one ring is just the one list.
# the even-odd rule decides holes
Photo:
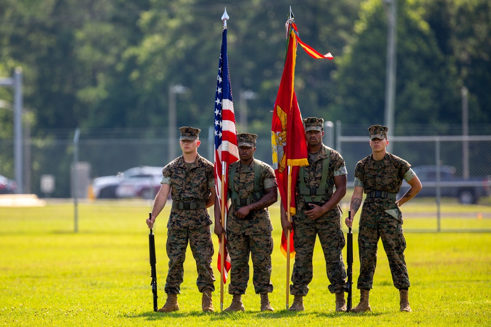
[(116, 197), (153, 199), (159, 192), (161, 180), (161, 167), (143, 167), (139, 174), (124, 178), (119, 183)]

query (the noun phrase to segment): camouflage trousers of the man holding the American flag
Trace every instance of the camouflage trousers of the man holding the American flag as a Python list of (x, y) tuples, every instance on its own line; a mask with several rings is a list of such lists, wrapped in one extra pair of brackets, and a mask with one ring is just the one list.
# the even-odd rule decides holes
[(256, 294), (273, 292), (271, 253), (273, 238), (269, 235), (246, 235), (227, 231), (228, 253), (232, 264), (228, 293), (246, 294), (249, 280), (249, 253), (252, 258), (252, 283)]

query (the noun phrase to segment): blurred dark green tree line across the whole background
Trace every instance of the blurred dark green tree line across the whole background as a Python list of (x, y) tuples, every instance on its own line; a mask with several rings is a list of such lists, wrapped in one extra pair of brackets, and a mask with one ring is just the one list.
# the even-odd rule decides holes
[[(334, 56), (314, 60), (299, 49), (302, 116), (369, 126), (383, 121), (387, 2), (2, 0), (0, 76), (23, 68), (34, 136), (166, 128), (175, 84), (188, 89), (177, 95), (178, 126), (210, 125), (226, 7), (237, 120), (250, 90), (248, 126), (269, 129), (292, 5), (302, 41)], [(460, 124), (463, 87), (469, 123), (491, 123), (490, 17), (488, 0), (397, 0), (396, 126)], [(0, 100), (12, 97), (0, 88)], [(12, 116), (0, 108), (0, 138), (12, 138)]]

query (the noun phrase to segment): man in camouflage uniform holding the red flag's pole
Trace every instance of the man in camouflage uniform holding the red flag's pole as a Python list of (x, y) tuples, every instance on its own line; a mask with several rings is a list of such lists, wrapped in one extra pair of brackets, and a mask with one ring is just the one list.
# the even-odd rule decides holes
[[(323, 119), (309, 117), (303, 120), (303, 125), (308, 166), (300, 169), (297, 181), (296, 214), (293, 216), (296, 255), (293, 284), (290, 285), (290, 293), (295, 298), (290, 310), (303, 310), (302, 297), (307, 295), (308, 284), (312, 281), (312, 257), (318, 235), (330, 282), (327, 288), (330, 293), (336, 294), (336, 310), (346, 311), (346, 269), (341, 252), (345, 239), (341, 229), (341, 208), (338, 205), (346, 194), (346, 166), (339, 152), (322, 143)], [(311, 202), (317, 203), (308, 204)]]

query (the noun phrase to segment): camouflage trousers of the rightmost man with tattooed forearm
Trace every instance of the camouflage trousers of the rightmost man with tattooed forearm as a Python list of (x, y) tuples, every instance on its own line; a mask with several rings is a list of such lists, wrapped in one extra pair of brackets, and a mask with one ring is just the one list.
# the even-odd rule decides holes
[(358, 289), (371, 289), (373, 275), (377, 265), (377, 244), (382, 239), (383, 249), (389, 260), (392, 281), (397, 289), (410, 286), (408, 268), (404, 259), (406, 239), (402, 230), (402, 214), (396, 219), (386, 213), (387, 203), (377, 201), (365, 201), (360, 217), (358, 234), (358, 246), (360, 256), (360, 276), (358, 277)]

